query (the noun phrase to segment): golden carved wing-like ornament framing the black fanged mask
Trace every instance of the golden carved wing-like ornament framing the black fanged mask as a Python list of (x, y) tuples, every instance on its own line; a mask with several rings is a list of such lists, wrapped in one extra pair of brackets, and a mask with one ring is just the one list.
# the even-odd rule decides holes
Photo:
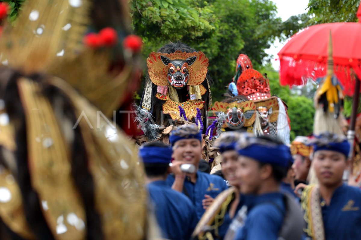
[(191, 56), (197, 56), (196, 60), (193, 64), (188, 66), (189, 72), (189, 80), (187, 85), (196, 86), (200, 85), (206, 77), (208, 71), (208, 58), (205, 57), (202, 51), (193, 52), (193, 53), (186, 53), (180, 50), (175, 51), (174, 53), (167, 54), (167, 53), (156, 53), (151, 52), (149, 54), (149, 58), (147, 58), (147, 67), (149, 77), (151, 78), (152, 82), (157, 86), (167, 86), (168, 85), (168, 65), (165, 65), (162, 60), (161, 56), (166, 56), (170, 60), (175, 59), (182, 59), (186, 60)]

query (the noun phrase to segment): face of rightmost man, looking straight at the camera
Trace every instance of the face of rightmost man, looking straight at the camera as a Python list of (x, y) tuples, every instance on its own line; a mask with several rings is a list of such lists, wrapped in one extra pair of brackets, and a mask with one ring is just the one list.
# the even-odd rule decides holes
[(332, 187), (342, 183), (343, 171), (347, 167), (345, 155), (337, 151), (318, 150), (312, 161), (320, 184)]

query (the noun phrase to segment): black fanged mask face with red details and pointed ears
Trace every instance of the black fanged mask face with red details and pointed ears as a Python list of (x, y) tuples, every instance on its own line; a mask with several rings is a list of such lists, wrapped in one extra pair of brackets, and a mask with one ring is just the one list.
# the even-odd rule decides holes
[(168, 65), (168, 82), (170, 85), (178, 89), (186, 86), (189, 79), (189, 72), (187, 68), (194, 63), (197, 57), (191, 56), (186, 60), (170, 60), (166, 56), (161, 56), (161, 59), (165, 65)]

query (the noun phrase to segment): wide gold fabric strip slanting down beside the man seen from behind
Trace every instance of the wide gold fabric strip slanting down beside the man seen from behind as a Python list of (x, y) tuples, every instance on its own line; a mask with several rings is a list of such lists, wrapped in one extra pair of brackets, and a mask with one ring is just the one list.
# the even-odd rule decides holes
[[(95, 178), (96, 205), (106, 239), (142, 239), (146, 218), (146, 193), (142, 165), (135, 145), (118, 129), (109, 136), (112, 127), (97, 116), (97, 109), (60, 79), (52, 83), (66, 92), (74, 103), (78, 116), (84, 113), (88, 121), (79, 122), (89, 169)], [(108, 120), (109, 121), (109, 120)], [(93, 129), (91, 129), (93, 127)]]

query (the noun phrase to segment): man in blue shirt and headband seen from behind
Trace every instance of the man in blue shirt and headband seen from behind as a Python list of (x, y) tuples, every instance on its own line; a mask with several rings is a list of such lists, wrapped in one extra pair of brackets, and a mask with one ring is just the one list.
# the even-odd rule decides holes
[(139, 149), (147, 175), (147, 189), (162, 237), (170, 240), (190, 239), (197, 224), (192, 202), (166, 183), (170, 172), (172, 149), (162, 142), (149, 142)]

